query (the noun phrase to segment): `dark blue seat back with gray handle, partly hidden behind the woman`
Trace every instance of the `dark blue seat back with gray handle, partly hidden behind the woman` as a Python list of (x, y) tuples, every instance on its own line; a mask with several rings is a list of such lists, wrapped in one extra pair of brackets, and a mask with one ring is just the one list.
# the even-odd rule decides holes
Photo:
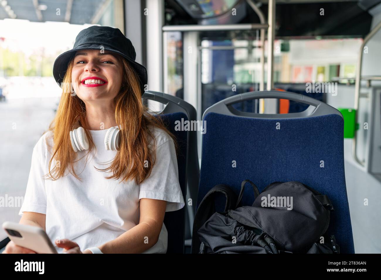
[[(143, 99), (155, 100), (165, 105), (164, 109), (157, 113), (157, 117), (160, 117), (165, 123), (167, 129), (174, 134), (176, 137), (176, 142), (178, 143), (177, 150), (177, 162), (179, 170), (179, 183), (182, 191), (184, 201), (187, 201), (187, 196), (189, 195), (189, 188), (187, 190), (187, 185), (196, 186), (191, 188), (192, 192), (195, 192), (194, 197), (197, 196), (198, 188), (198, 176), (199, 176), (199, 163), (197, 159), (197, 165), (195, 165), (194, 159), (197, 158), (197, 139), (193, 141), (193, 132), (176, 130), (177, 121), (187, 121), (195, 119), (195, 109), (189, 103), (184, 100), (174, 97), (172, 95), (163, 94), (161, 92), (147, 91), (142, 96)], [(192, 110), (193, 109), (193, 110)], [(196, 135), (195, 135), (196, 136)], [(189, 152), (194, 148), (196, 153)], [(195, 169), (195, 170), (194, 170)], [(193, 172), (193, 173), (192, 173)], [(191, 176), (187, 174), (192, 174)], [(192, 176), (195, 174), (197, 176), (197, 181), (195, 181)], [(192, 208), (191, 208), (192, 209)], [(195, 211), (195, 205), (194, 205)], [(186, 229), (190, 228), (187, 221), (186, 213), (189, 212), (189, 208), (186, 206), (173, 212), (166, 212), (164, 216), (164, 224), (168, 231), (168, 248), (167, 253), (184, 253), (184, 240), (186, 239)], [(194, 215), (194, 214), (193, 214)], [(192, 220), (193, 224), (193, 220)]]

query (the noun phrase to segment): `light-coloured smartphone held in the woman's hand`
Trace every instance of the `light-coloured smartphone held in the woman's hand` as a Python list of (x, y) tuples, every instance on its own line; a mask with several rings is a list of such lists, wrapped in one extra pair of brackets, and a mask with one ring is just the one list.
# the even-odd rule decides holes
[(9, 238), (18, 246), (30, 249), (36, 253), (57, 254), (56, 248), (51, 243), (46, 232), (37, 226), (4, 222), (5, 229)]

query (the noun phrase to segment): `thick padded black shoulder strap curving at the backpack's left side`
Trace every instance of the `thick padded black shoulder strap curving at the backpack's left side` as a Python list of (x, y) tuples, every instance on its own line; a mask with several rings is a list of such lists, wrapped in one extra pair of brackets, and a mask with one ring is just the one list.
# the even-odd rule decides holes
[(227, 212), (230, 209), (234, 209), (235, 205), (237, 204), (237, 195), (227, 185), (216, 185), (207, 192), (207, 194), (201, 200), (194, 216), (191, 248), (192, 254), (197, 254), (200, 247), (200, 239), (198, 238), (197, 231), (210, 218), (210, 216), (216, 212), (215, 197), (217, 194), (221, 193), (226, 197), (224, 212)]

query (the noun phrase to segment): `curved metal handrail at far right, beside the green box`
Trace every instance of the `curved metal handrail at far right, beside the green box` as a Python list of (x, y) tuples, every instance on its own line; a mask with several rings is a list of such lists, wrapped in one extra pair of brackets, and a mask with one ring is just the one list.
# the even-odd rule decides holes
[[(357, 121), (359, 119), (359, 102), (360, 102), (360, 77), (361, 77), (361, 67), (362, 67), (362, 54), (365, 47), (365, 44), (368, 43), (368, 41), (378, 32), (378, 30), (381, 29), (381, 22), (379, 22), (375, 28), (369, 32), (367, 37), (364, 38), (364, 41), (360, 48), (360, 55), (359, 60), (357, 62), (357, 69), (356, 69), (356, 82), (355, 82), (355, 103), (354, 103), (354, 109), (356, 110), (355, 114), (355, 124), (357, 124)], [(354, 137), (353, 137), (353, 143), (352, 143), (352, 154), (361, 166), (365, 166), (365, 162), (360, 161), (360, 159), (357, 157), (357, 146), (356, 146), (356, 138), (357, 138), (357, 130), (355, 130)]]

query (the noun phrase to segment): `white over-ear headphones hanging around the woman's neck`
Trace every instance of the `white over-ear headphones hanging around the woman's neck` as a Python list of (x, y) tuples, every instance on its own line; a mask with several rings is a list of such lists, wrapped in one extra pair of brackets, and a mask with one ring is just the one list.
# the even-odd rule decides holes
[[(70, 141), (72, 143), (73, 150), (77, 151), (88, 150), (89, 141), (85, 134), (85, 129), (82, 126), (70, 131)], [(106, 136), (104, 137), (104, 148), (106, 150), (118, 151), (120, 144), (120, 130), (118, 127), (110, 127)]]

